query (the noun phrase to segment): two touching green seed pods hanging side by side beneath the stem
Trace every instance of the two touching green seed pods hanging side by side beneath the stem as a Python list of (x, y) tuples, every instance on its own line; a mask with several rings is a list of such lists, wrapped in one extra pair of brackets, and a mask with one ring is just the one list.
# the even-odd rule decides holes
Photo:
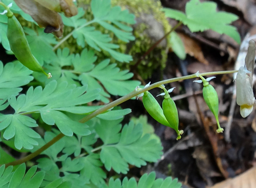
[(182, 130), (178, 130), (178, 111), (176, 104), (168, 94), (168, 91), (164, 88), (165, 96), (162, 103), (162, 108), (159, 105), (155, 97), (148, 91), (144, 92), (142, 102), (152, 118), (159, 123), (173, 128), (177, 133), (177, 140), (181, 138), (183, 134)]

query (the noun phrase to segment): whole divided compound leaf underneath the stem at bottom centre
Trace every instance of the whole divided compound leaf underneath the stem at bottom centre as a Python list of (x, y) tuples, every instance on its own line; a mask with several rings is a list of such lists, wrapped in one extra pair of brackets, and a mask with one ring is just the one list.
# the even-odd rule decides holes
[[(48, 157), (37, 161), (38, 167), (45, 171), (42, 185), (46, 186), (52, 181), (62, 179), (71, 182), (71, 187), (74, 188), (87, 184), (101, 187), (106, 178), (102, 166), (108, 171), (113, 168), (118, 173), (127, 173), (128, 164), (140, 167), (146, 165), (146, 161), (156, 162), (162, 154), (162, 147), (160, 142), (151, 137), (153, 133), (142, 136), (142, 124), (134, 124), (132, 121), (121, 129), (121, 120), (98, 119), (93, 127), (90, 127), (95, 129), (95, 133), (88, 136), (64, 137), (45, 150), (42, 154)], [(57, 130), (46, 132), (44, 139), (37, 139), (39, 145), (32, 151), (49, 142), (58, 133)], [(93, 149), (92, 146), (98, 139), (101, 139), (103, 144), (98, 146), (98, 149)], [(83, 151), (85, 153), (82, 154)], [(73, 154), (76, 157), (72, 159)], [(61, 167), (57, 166), (56, 162), (61, 162)]]

